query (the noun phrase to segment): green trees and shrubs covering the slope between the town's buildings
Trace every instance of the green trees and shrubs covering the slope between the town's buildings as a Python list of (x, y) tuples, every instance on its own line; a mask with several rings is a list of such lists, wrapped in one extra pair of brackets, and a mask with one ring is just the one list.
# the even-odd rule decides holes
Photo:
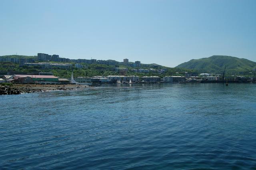
[[(63, 77), (63, 78), (70, 78), (72, 71), (74, 72), (74, 77), (78, 76), (109, 76), (109, 75), (124, 75), (124, 76), (184, 76), (185, 72), (191, 72), (190, 69), (183, 69), (183, 68), (168, 68), (164, 66), (160, 66), (156, 64), (148, 64), (150, 67), (146, 67), (147, 65), (142, 65), (142, 68), (151, 68), (151, 65), (154, 65), (155, 69), (166, 69), (166, 72), (160, 74), (160, 73), (138, 73), (138, 72), (131, 72), (130, 70), (128, 72), (115, 72), (116, 67), (122, 67), (122, 68), (132, 68), (122, 65), (107, 65), (107, 64), (85, 64), (82, 63), (85, 68), (75, 68), (72, 66), (72, 68), (68, 69), (62, 69), (62, 68), (52, 68), (52, 69), (43, 69), (36, 66), (23, 66), (19, 67), (19, 64), (16, 64), (14, 62), (0, 62), (0, 71), (8, 72), (8, 71), (16, 71), (16, 72), (22, 72), (24, 74), (31, 74), (31, 73), (38, 73), (38, 72), (52, 72), (54, 76)], [(153, 66), (152, 66), (153, 67)]]

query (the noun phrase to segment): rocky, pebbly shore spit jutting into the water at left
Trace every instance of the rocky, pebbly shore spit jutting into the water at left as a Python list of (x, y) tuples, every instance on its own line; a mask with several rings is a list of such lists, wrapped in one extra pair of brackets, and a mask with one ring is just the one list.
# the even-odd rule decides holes
[(22, 94), (44, 92), (51, 90), (78, 90), (88, 86), (78, 86), (75, 84), (66, 85), (41, 85), (41, 84), (13, 84), (13, 86), (0, 86), (0, 95)]

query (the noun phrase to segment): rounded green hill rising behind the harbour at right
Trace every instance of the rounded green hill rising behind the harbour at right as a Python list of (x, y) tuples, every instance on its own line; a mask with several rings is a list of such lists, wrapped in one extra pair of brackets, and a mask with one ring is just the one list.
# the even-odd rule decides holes
[(224, 70), (230, 73), (252, 71), (256, 68), (256, 62), (232, 56), (211, 56), (208, 58), (192, 59), (176, 66), (176, 68), (187, 68), (202, 72), (220, 73)]

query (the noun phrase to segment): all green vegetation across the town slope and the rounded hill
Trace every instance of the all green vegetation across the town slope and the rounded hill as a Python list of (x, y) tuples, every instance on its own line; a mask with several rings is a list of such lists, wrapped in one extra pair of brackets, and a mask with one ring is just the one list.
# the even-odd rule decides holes
[[(9, 58), (32, 58), (36, 59), (36, 56), (4, 56)], [(114, 60), (112, 60), (114, 61)], [(37, 61), (36, 61), (37, 62)], [(243, 76), (251, 76), (255, 75), (255, 71), (252, 71), (253, 68), (256, 68), (256, 62), (252, 62), (250, 60), (244, 58), (236, 58), (232, 56), (211, 56), (209, 58), (201, 58), (197, 60), (190, 60), (189, 62), (182, 63), (175, 68), (168, 68), (165, 66), (161, 66), (158, 64), (141, 64), (142, 69), (166, 69), (166, 72), (163, 73), (139, 73), (139, 72), (131, 72), (130, 69), (134, 68), (131, 66), (124, 66), (122, 62), (114, 62), (121, 63), (116, 65), (110, 64), (86, 64), (80, 63), (84, 65), (84, 68), (79, 69), (74, 67), (74, 62), (66, 62), (73, 64), (71, 68), (61, 69), (58, 67), (54, 67), (52, 69), (49, 68), (39, 68), (36, 66), (23, 66), (20, 67), (19, 64), (14, 62), (0, 62), (0, 71), (16, 71), (22, 72), (24, 74), (32, 74), (38, 72), (52, 72), (54, 76), (70, 78), (72, 71), (74, 72), (74, 76), (108, 76), (108, 75), (124, 75), (124, 76), (184, 76), (185, 72), (196, 72), (196, 73), (216, 73), (222, 74), (226, 65), (226, 75), (243, 75)], [(115, 68), (128, 68), (128, 72), (115, 72)], [(139, 68), (137, 68), (139, 69)]]

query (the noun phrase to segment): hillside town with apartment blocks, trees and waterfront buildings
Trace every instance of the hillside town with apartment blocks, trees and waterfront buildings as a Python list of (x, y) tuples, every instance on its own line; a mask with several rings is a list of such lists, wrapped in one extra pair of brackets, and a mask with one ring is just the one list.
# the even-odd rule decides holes
[[(128, 84), (128, 83), (207, 83), (255, 82), (254, 76), (226, 76), (167, 68), (140, 61), (69, 59), (38, 53), (37, 56), (0, 56), (0, 83), (14, 84)], [(5, 69), (6, 68), (6, 69)], [(256, 70), (253, 70), (254, 72)], [(74, 74), (73, 74), (74, 73)]]

